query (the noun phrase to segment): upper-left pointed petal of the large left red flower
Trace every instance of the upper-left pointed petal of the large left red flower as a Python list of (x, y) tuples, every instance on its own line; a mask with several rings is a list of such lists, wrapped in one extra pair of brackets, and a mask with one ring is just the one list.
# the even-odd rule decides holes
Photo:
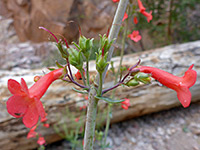
[(8, 80), (8, 90), (12, 94), (17, 94), (17, 95), (23, 95), (24, 94), (19, 82), (15, 81), (13, 79)]

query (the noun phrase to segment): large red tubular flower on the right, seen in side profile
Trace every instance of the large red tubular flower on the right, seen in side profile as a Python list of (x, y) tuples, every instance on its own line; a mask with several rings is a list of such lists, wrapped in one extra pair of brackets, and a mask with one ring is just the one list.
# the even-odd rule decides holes
[(141, 66), (139, 69), (141, 72), (150, 73), (151, 76), (161, 84), (175, 90), (183, 107), (188, 107), (191, 102), (191, 93), (189, 88), (195, 84), (197, 79), (197, 72), (192, 70), (193, 66), (194, 65), (191, 65), (189, 67), (183, 77), (174, 76), (166, 71), (154, 67)]

